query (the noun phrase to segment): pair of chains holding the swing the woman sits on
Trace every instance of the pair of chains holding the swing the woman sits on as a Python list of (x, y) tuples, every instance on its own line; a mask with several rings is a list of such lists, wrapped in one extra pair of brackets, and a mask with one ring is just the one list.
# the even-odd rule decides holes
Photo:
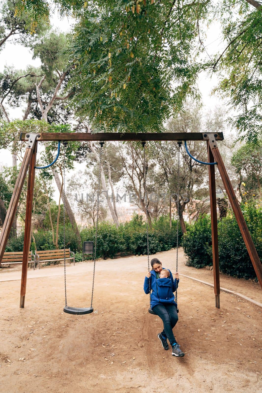
[[(144, 151), (144, 179), (145, 179), (145, 196), (147, 197), (147, 176), (146, 176), (146, 171), (145, 171), (145, 144), (146, 142), (143, 141), (143, 151)], [(178, 141), (178, 193), (177, 193), (177, 198), (179, 195), (179, 181), (180, 181), (180, 147), (181, 147), (182, 142)], [(147, 263), (148, 263), (148, 272), (150, 272), (150, 263), (149, 263), (149, 243), (148, 243), (148, 208), (147, 208), (147, 203), (145, 204), (146, 206), (146, 224), (147, 224)], [(177, 201), (177, 220), (176, 220), (176, 273), (178, 272), (178, 224), (179, 224), (179, 200)], [(178, 304), (178, 280), (176, 280), (176, 295), (175, 295), (175, 302)], [(178, 307), (176, 308), (176, 311), (178, 312)], [(153, 315), (157, 315), (154, 310), (151, 309), (151, 283), (149, 279), (149, 309), (148, 312)]]

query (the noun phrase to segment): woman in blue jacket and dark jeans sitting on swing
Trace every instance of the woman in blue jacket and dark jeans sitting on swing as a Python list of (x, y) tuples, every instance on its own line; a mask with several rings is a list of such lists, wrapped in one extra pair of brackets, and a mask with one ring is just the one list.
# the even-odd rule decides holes
[(177, 289), (179, 275), (176, 273), (174, 280), (170, 270), (166, 269), (170, 273), (169, 277), (159, 277), (163, 267), (162, 263), (157, 258), (152, 259), (151, 266), (152, 270), (148, 272), (145, 277), (144, 291), (145, 294), (149, 294), (151, 288), (150, 308), (159, 316), (159, 318), (161, 318), (164, 324), (164, 329), (158, 334), (158, 338), (161, 341), (162, 347), (166, 350), (169, 349), (169, 345), (167, 343), (168, 338), (170, 345), (172, 346), (172, 355), (182, 357), (185, 354), (181, 351), (180, 345), (176, 342), (172, 331), (178, 321), (177, 303), (175, 302), (173, 292)]

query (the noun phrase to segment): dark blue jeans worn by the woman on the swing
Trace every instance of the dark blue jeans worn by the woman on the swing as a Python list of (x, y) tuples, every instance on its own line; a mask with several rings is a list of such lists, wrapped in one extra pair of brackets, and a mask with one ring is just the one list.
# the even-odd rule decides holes
[(162, 337), (169, 339), (170, 345), (176, 343), (176, 339), (173, 334), (173, 327), (178, 321), (178, 313), (176, 312), (176, 305), (174, 304), (157, 304), (153, 307), (154, 312), (161, 318), (164, 323), (164, 330), (161, 332)]

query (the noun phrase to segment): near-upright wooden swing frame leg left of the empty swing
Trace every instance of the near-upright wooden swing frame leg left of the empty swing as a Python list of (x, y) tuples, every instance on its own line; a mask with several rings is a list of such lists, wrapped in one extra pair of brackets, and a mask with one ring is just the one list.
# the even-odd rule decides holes
[(33, 195), (35, 184), (35, 162), (37, 157), (37, 142), (31, 155), (28, 184), (27, 184), (27, 197), (26, 197), (26, 220), (25, 220), (25, 234), (24, 234), (24, 250), (23, 250), (23, 263), (22, 263), (22, 278), (21, 278), (21, 292), (20, 292), (20, 308), (24, 308), (26, 296), (26, 278), (28, 267), (28, 253), (31, 246), (31, 219), (33, 208)]

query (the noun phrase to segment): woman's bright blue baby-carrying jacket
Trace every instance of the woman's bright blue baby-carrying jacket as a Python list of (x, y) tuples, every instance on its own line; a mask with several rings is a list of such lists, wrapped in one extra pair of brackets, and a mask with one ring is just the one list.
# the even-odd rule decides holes
[[(163, 268), (165, 269), (165, 268)], [(169, 270), (169, 269), (167, 269)], [(170, 272), (170, 270), (169, 270)], [(153, 308), (157, 304), (172, 303), (177, 306), (175, 302), (175, 296), (173, 292), (176, 291), (176, 279), (173, 279), (172, 273), (170, 272), (169, 278), (156, 278), (156, 272), (154, 270), (150, 271), (151, 277), (145, 277), (144, 281), (144, 291), (145, 294), (149, 294), (149, 280), (151, 286), (151, 303), (150, 306)], [(179, 283), (179, 279), (178, 279)]]

